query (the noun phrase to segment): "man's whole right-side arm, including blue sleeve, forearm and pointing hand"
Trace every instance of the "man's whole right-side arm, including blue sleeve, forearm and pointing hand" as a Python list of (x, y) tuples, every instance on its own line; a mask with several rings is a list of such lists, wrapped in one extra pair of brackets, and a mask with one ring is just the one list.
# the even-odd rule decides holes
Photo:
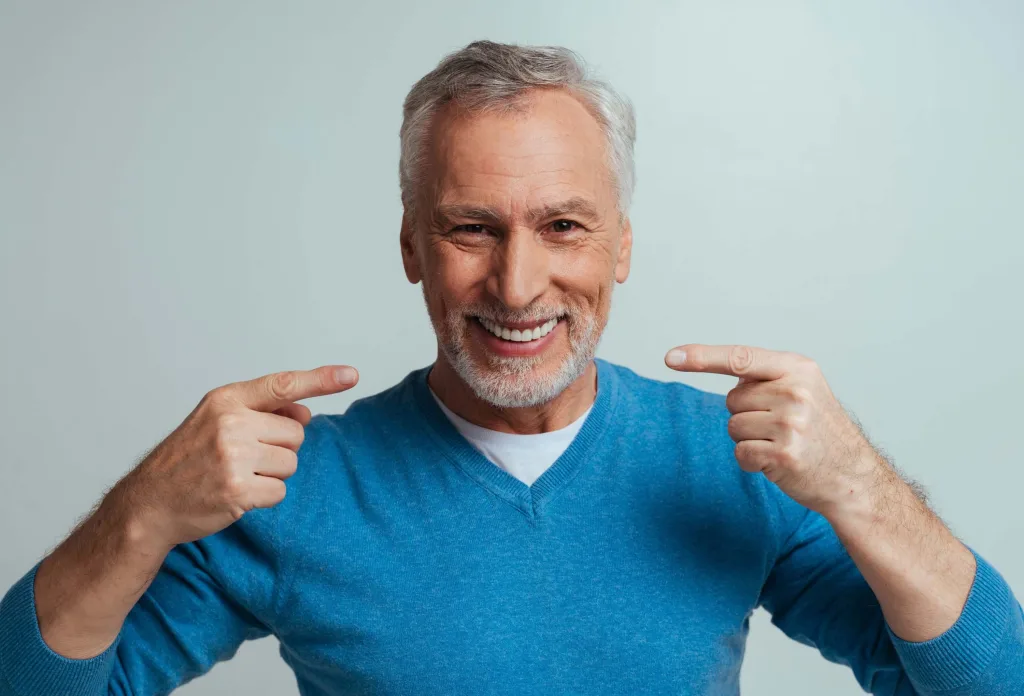
[(1024, 613), (1006, 580), (868, 442), (813, 360), (687, 344), (666, 362), (739, 378), (725, 398), (736, 463), (784, 493), (787, 517), (802, 511), (764, 590), (773, 621), (858, 664), (876, 693), (1024, 689)]

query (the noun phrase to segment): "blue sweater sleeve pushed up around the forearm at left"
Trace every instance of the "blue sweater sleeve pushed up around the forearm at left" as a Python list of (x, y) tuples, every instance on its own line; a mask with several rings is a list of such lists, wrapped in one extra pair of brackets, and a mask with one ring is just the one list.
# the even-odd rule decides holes
[(43, 641), (38, 567), (0, 603), (0, 696), (167, 694), (270, 633), (257, 613), (272, 604), (271, 556), (241, 522), (175, 547), (115, 642), (89, 659), (63, 657)]

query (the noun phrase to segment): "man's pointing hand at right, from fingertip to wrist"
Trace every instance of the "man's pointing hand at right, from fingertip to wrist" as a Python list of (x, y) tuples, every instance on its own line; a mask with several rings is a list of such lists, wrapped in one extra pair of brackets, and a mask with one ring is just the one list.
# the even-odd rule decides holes
[(736, 461), (806, 508), (828, 516), (857, 505), (888, 467), (810, 358), (687, 344), (669, 351), (665, 361), (680, 372), (739, 378), (725, 399)]

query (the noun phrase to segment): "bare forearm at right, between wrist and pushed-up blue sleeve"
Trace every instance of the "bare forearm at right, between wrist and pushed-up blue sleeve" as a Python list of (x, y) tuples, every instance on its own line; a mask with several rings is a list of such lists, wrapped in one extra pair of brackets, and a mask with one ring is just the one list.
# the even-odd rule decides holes
[(904, 641), (928, 641), (959, 617), (974, 581), (975, 558), (888, 463), (874, 456), (871, 480), (825, 517), (892, 632)]

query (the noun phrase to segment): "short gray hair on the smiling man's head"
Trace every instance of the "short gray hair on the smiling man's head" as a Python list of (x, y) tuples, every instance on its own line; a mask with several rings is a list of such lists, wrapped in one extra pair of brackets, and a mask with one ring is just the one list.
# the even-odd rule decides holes
[(514, 110), (524, 93), (538, 87), (562, 88), (588, 108), (607, 137), (609, 168), (618, 188), (618, 213), (625, 216), (636, 173), (633, 143), (636, 117), (629, 99), (598, 79), (573, 51), (561, 46), (517, 46), (474, 41), (450, 53), (423, 76), (406, 96), (399, 137), (398, 179), (408, 213), (422, 183), (427, 137), (437, 111), (456, 101), (470, 112)]

